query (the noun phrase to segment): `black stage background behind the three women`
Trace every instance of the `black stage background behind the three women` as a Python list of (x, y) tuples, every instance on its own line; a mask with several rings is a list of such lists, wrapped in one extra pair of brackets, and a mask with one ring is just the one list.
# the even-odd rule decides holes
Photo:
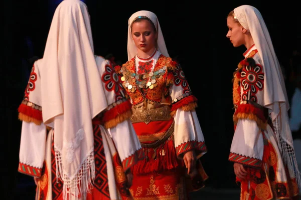
[[(29, 78), (34, 56), (43, 57), (45, 43), (56, 6), (61, 0), (5, 0), (2, 14), (1, 94), (1, 199), (34, 199), (33, 178), (19, 173), (21, 122), (18, 106)], [(270, 3), (273, 2), (273, 3)], [(238, 188), (233, 163), (228, 161), (233, 136), (232, 73), (243, 58), (245, 47), (234, 48), (226, 38), (226, 17), (233, 8), (250, 4), (261, 12), (269, 29), (280, 63), (289, 73), (288, 60), (299, 50), (301, 14), (296, 1), (263, 0), (192, 1), (85, 0), (91, 15), (95, 53), (112, 53), (120, 62), (127, 60), (127, 20), (138, 10), (157, 14), (171, 57), (185, 72), (199, 107), (197, 114), (208, 152), (202, 162), (209, 175), (207, 187)], [(290, 84), (287, 91), (290, 95)], [(2, 194), (3, 195), (3, 194)], [(223, 199), (223, 198), (220, 198)], [(238, 196), (233, 198), (238, 199)]]

